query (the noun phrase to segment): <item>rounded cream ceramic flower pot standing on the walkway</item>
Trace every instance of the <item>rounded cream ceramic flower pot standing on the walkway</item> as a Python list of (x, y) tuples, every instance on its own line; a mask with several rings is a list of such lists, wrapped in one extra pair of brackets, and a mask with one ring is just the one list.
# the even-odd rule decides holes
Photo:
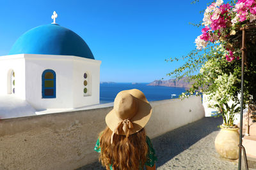
[(227, 159), (238, 159), (239, 152), (239, 128), (221, 127), (221, 131), (215, 139), (215, 149)]

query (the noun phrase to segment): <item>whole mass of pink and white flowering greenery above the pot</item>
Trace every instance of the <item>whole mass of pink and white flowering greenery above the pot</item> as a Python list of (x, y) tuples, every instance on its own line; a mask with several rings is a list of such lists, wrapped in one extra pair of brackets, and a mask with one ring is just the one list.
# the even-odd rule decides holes
[(232, 126), (240, 103), (241, 62), (232, 61), (241, 56), (242, 27), (246, 28), (244, 105), (256, 105), (255, 8), (255, 0), (233, 0), (226, 4), (217, 0), (211, 3), (204, 12), (202, 34), (195, 40), (196, 49), (181, 58), (169, 59), (171, 62), (185, 60), (182, 66), (168, 74), (175, 78), (185, 76), (191, 84), (180, 97), (206, 94), (210, 106), (221, 111), (228, 126)]

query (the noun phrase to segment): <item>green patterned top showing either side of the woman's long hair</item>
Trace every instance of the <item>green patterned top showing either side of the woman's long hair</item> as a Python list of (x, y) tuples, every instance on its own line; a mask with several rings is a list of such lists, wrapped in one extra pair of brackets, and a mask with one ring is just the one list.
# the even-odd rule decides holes
[[(156, 152), (152, 146), (152, 143), (150, 141), (150, 139), (148, 138), (148, 136), (146, 136), (146, 142), (147, 142), (147, 145), (148, 145), (148, 153), (147, 153), (147, 161), (145, 162), (145, 166), (150, 166), (150, 167), (153, 167), (154, 164), (156, 163), (157, 161), (157, 157), (156, 157)], [(98, 153), (100, 153), (100, 139), (98, 138), (97, 140), (97, 143), (94, 147), (94, 150)], [(110, 169), (112, 169), (112, 165), (110, 166)]]

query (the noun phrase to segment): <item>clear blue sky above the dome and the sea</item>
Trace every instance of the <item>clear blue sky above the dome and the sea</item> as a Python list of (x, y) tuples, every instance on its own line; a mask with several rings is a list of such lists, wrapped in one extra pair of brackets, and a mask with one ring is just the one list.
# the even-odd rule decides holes
[[(101, 60), (100, 81), (150, 82), (182, 62), (165, 62), (195, 48), (198, 23), (209, 0), (1, 1), (0, 55), (24, 32), (56, 22), (81, 36)], [(181, 3), (180, 3), (181, 2)]]

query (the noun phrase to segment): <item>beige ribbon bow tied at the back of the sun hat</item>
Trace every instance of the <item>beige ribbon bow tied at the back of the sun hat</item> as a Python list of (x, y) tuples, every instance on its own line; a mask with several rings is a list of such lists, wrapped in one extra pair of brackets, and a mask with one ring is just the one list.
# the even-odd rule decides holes
[(127, 138), (129, 136), (130, 129), (133, 129), (132, 122), (128, 118), (125, 120), (120, 119), (120, 122), (118, 123), (118, 125), (116, 125), (115, 130), (111, 134), (110, 143), (113, 143), (114, 134), (120, 134), (120, 131), (122, 130), (124, 131), (124, 134)]

